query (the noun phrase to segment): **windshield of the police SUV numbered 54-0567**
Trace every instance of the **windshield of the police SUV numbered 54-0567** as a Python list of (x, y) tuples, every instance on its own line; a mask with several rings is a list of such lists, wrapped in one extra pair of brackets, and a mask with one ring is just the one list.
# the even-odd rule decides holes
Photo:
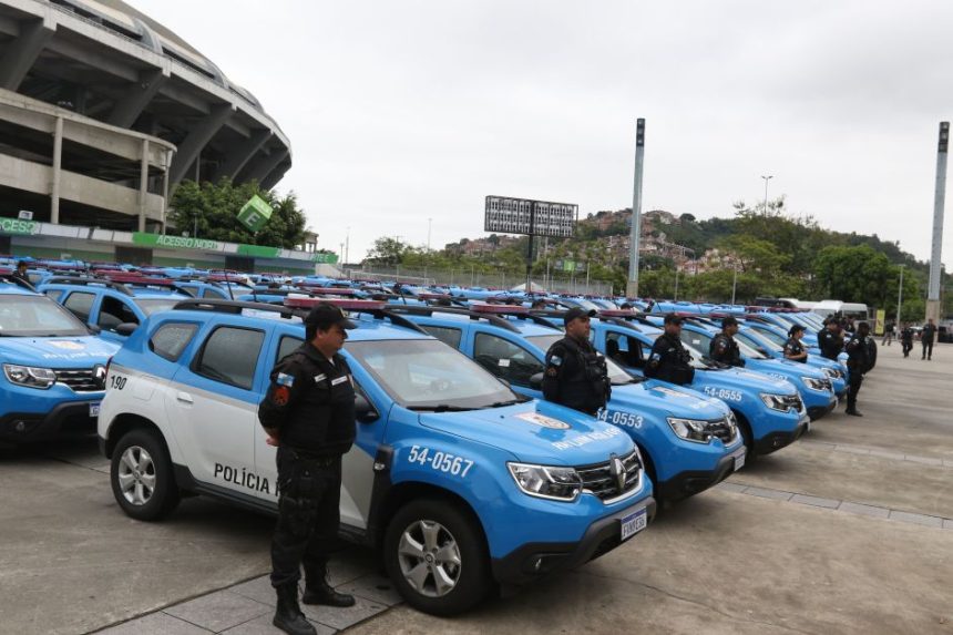
[(525, 400), (435, 339), (352, 341), (346, 349), (404, 408), (473, 410)]

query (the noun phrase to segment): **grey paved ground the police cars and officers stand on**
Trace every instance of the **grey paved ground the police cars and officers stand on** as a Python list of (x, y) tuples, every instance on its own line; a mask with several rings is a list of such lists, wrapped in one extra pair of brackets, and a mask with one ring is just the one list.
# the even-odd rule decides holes
[[(953, 634), (951, 386), (953, 347), (929, 362), (883, 348), (867, 417), (837, 411), (575, 572), (439, 619), (389, 610), (371, 554), (351, 550), (332, 582), (358, 606), (309, 617), (389, 635)], [(132, 521), (90, 443), (0, 452), (0, 633), (276, 632), (270, 520), (191, 499), (168, 522)]]

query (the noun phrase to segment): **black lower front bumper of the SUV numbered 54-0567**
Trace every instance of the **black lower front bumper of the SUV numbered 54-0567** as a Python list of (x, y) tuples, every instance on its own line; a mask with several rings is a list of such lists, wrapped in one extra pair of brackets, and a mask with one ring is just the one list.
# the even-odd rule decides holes
[(501, 584), (525, 584), (555, 571), (573, 569), (595, 560), (622, 544), (622, 519), (643, 508), (647, 510), (650, 523), (655, 518), (656, 503), (655, 499), (646, 496), (629, 508), (595, 521), (578, 542), (533, 542), (503, 557), (493, 559), (493, 577)]

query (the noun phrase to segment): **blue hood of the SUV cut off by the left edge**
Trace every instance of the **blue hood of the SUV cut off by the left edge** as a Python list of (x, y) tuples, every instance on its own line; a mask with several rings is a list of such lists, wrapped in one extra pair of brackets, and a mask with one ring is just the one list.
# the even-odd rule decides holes
[(117, 344), (93, 336), (0, 338), (4, 362), (43, 368), (89, 368), (105, 363), (119, 349)]

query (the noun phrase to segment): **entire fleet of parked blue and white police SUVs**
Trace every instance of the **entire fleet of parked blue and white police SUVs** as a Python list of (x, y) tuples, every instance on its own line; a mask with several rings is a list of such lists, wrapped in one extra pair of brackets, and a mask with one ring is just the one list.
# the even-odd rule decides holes
[[(269, 372), (304, 342), (310, 307), (348, 311), (357, 440), (341, 533), (442, 615), (612, 551), (663, 503), (795, 442), (848, 379), (816, 349), (783, 360), (791, 325), (821, 326), (799, 311), (106, 263), (31, 262), (25, 285), (3, 265), (0, 441), (95, 429), (115, 500), (145, 521), (195, 494), (275, 512), (257, 421)], [(594, 418), (542, 397), (571, 307), (596, 311), (613, 383)], [(689, 386), (643, 376), (669, 311), (685, 318)], [(707, 356), (726, 315), (742, 324), (745, 368)]]

